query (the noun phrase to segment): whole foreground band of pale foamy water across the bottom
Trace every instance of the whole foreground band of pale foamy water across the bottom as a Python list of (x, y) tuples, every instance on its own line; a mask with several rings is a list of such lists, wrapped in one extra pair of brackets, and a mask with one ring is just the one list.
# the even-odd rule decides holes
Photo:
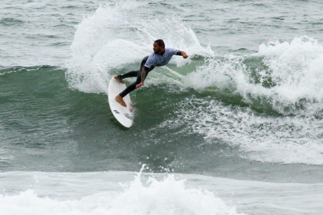
[(319, 214), (323, 198), (321, 183), (197, 174), (9, 171), (0, 173), (0, 178), (0, 208), (5, 215)]

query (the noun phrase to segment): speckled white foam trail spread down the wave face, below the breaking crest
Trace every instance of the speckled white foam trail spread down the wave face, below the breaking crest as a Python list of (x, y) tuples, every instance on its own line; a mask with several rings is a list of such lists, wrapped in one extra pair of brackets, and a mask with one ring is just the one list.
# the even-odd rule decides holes
[(323, 165), (320, 118), (261, 116), (249, 107), (228, 106), (210, 97), (187, 98), (178, 106), (176, 117), (161, 128), (183, 127), (184, 134), (237, 147), (237, 156), (249, 160)]

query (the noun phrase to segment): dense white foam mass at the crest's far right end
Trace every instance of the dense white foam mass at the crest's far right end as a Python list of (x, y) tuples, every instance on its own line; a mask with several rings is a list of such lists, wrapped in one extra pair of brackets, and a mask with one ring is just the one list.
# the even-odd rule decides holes
[(275, 92), (284, 100), (323, 99), (323, 45), (302, 36), (290, 43), (274, 41), (259, 46), (256, 56), (264, 57)]

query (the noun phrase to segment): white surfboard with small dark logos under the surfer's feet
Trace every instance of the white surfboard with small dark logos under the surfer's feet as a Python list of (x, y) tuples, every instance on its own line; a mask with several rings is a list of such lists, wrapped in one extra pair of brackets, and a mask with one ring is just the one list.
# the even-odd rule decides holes
[(125, 127), (130, 127), (133, 123), (132, 103), (129, 94), (124, 97), (127, 107), (119, 104), (115, 96), (126, 89), (126, 84), (120, 83), (112, 76), (108, 87), (108, 99), (113, 116)]

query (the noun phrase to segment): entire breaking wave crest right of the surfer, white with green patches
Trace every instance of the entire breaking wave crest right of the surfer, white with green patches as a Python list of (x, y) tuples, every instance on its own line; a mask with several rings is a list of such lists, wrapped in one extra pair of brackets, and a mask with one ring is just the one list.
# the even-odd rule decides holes
[(252, 105), (270, 105), (279, 114), (309, 116), (321, 112), (322, 70), (323, 45), (302, 36), (262, 44), (245, 58), (208, 58), (184, 81), (198, 91), (213, 87)]

